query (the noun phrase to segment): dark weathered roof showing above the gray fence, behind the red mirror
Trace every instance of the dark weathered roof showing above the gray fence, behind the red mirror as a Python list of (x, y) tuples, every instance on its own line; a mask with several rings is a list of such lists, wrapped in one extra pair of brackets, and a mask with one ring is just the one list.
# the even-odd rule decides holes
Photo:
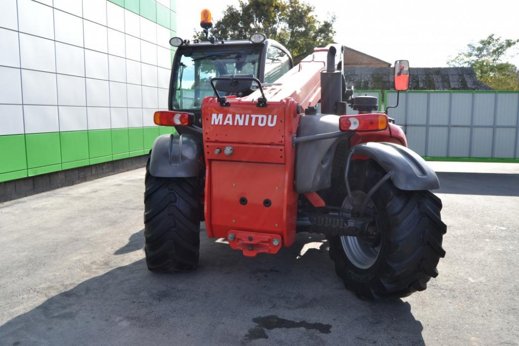
[[(393, 68), (345, 68), (348, 87), (393, 89)], [(472, 68), (410, 68), (409, 90), (493, 90), (476, 78)]]

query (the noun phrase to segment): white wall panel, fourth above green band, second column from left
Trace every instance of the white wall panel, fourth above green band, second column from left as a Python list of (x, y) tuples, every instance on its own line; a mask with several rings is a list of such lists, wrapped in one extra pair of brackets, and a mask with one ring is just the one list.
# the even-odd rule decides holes
[(21, 32), (54, 39), (52, 8), (31, 0), (18, 0), (18, 25)]

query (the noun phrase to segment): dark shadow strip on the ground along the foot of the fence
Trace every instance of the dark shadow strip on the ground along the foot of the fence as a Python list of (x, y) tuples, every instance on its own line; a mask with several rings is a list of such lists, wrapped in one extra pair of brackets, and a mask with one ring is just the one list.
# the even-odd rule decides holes
[(434, 193), (519, 196), (518, 174), (436, 172), (441, 188)]

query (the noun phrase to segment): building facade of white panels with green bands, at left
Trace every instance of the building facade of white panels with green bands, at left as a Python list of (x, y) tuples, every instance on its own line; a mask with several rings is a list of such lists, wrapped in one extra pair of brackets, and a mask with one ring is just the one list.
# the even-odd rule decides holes
[(176, 0), (0, 1), (0, 182), (145, 155)]

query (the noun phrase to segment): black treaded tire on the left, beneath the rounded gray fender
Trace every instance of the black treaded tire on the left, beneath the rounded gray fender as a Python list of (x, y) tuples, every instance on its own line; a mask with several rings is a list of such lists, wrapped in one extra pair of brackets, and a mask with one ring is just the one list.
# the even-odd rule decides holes
[(146, 166), (144, 237), (146, 264), (152, 272), (186, 272), (198, 267), (200, 180), (161, 178)]

